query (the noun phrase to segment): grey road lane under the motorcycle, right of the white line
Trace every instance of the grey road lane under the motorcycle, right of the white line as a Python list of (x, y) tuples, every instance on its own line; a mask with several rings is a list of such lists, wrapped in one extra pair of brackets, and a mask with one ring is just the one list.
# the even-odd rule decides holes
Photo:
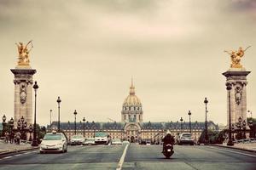
[(238, 154), (211, 146), (175, 145), (172, 158), (165, 159), (161, 147), (131, 144), (122, 169), (256, 169), (254, 154), (243, 151)]

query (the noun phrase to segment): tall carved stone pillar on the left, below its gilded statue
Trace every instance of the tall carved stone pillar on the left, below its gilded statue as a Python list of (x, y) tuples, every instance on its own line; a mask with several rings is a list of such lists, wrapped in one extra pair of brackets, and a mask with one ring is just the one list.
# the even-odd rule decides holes
[(32, 76), (37, 72), (31, 67), (11, 69), (15, 75), (15, 127), (21, 116), (27, 125), (32, 124)]

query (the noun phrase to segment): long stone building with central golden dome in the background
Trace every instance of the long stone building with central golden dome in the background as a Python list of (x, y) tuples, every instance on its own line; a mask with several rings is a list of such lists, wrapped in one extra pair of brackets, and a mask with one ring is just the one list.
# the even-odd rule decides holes
[[(61, 122), (60, 127), (68, 139), (74, 135), (74, 122)], [(52, 122), (51, 128), (56, 130), (57, 122)], [(191, 133), (195, 141), (204, 128), (205, 122), (191, 122)], [(218, 126), (210, 121), (208, 128), (216, 130)], [(189, 133), (189, 122), (143, 122), (143, 105), (135, 95), (135, 87), (131, 82), (130, 94), (122, 107), (121, 122), (77, 122), (76, 129), (76, 133), (84, 135), (86, 139), (93, 138), (96, 132), (106, 132), (112, 139), (160, 142), (167, 130), (176, 137), (179, 133)]]

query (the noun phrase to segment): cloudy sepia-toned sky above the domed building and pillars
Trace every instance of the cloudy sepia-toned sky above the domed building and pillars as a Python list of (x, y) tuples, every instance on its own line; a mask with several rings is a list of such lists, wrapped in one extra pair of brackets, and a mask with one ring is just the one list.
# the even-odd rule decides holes
[(226, 123), (224, 49), (251, 45), (247, 109), (256, 115), (256, 3), (253, 0), (95, 0), (0, 2), (0, 115), (14, 115), (15, 42), (33, 41), (38, 122), (120, 121), (134, 77), (144, 121)]

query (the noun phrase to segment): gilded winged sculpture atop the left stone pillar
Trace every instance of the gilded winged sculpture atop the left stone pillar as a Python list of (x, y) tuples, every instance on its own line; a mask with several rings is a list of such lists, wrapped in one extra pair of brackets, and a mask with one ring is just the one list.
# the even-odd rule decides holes
[(16, 43), (18, 48), (18, 66), (29, 66), (29, 53), (33, 48), (32, 40), (26, 43), (24, 46), (23, 42)]

